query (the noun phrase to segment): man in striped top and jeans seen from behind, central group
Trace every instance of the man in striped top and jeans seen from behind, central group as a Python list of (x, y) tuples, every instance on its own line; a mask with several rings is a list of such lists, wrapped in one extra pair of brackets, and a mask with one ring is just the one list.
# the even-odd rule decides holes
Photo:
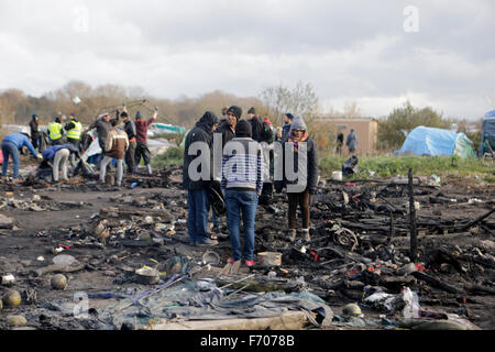
[[(229, 263), (241, 261), (254, 265), (254, 221), (257, 199), (263, 188), (263, 153), (252, 138), (251, 124), (241, 120), (235, 125), (235, 138), (223, 148), (221, 189), (226, 195), (227, 219), (232, 246)], [(244, 251), (240, 243), (240, 212), (244, 228)]]

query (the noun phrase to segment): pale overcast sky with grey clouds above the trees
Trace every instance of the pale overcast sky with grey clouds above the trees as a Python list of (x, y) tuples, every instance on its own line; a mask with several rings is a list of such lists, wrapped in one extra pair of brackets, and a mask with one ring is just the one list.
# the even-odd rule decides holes
[[(413, 8), (410, 8), (413, 7)], [(495, 109), (495, 1), (1, 0), (0, 89), (69, 80), (157, 98), (309, 82), (323, 109)]]

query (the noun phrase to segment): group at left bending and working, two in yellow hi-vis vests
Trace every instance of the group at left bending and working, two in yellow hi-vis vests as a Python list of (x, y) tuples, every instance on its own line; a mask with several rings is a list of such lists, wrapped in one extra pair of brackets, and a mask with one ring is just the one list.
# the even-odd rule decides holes
[[(107, 167), (116, 161), (117, 178), (116, 185), (121, 186), (123, 177), (123, 161), (125, 160), (128, 174), (138, 173), (141, 160), (144, 161), (147, 174), (152, 175), (151, 153), (147, 147), (147, 130), (156, 120), (157, 108), (151, 119), (145, 120), (143, 114), (138, 111), (135, 121), (129, 118), (125, 105), (123, 111), (117, 110), (116, 117), (112, 119), (110, 113), (103, 113), (85, 131), (82, 124), (77, 117), (72, 113), (69, 121), (62, 124), (61, 118), (56, 117), (47, 125), (48, 142), (44, 145), (43, 133), (40, 131), (40, 118), (37, 114), (32, 116), (30, 122), (31, 141), (25, 133), (8, 134), (2, 141), (2, 176), (7, 176), (9, 158), (13, 162), (13, 179), (19, 178), (20, 153), (26, 147), (31, 154), (40, 160), (44, 160), (52, 166), (53, 182), (57, 183), (62, 179), (68, 179), (68, 164), (76, 166), (76, 160), (80, 158), (84, 148), (81, 146), (81, 135), (89, 136), (89, 143), (94, 140), (90, 131), (96, 131), (98, 145), (101, 148), (99, 157), (99, 183), (105, 183)], [(120, 119), (124, 125), (119, 127)], [(38, 150), (38, 152), (36, 151)], [(40, 153), (41, 152), (41, 153)]]

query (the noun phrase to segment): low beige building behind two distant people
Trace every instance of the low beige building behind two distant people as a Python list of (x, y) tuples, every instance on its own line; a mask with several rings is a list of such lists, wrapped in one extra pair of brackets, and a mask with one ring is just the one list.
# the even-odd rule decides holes
[(356, 154), (373, 154), (376, 152), (376, 142), (378, 141), (378, 121), (373, 118), (320, 118), (315, 122), (328, 123), (329, 128), (336, 131), (336, 136), (339, 132), (344, 135), (344, 145), (342, 153), (346, 155), (349, 153), (345, 147), (345, 139), (348, 138), (351, 129), (358, 136)]

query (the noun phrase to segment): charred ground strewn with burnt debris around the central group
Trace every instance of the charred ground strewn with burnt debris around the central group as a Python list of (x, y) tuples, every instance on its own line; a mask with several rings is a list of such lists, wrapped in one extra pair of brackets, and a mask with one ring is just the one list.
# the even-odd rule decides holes
[(230, 267), (224, 217), (218, 245), (189, 245), (180, 180), (2, 180), (0, 328), (495, 328), (493, 185), (322, 179), (309, 243), (286, 240), (275, 194), (257, 209), (256, 265)]

